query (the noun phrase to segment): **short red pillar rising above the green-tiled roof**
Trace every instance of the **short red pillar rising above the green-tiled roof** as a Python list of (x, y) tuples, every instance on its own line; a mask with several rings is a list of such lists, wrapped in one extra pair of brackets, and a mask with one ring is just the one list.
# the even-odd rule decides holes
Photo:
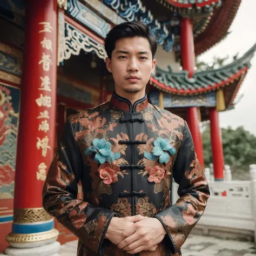
[(183, 18), (181, 20), (180, 47), (183, 70), (187, 70), (188, 77), (192, 77), (196, 60), (194, 55), (194, 37), (191, 19)]

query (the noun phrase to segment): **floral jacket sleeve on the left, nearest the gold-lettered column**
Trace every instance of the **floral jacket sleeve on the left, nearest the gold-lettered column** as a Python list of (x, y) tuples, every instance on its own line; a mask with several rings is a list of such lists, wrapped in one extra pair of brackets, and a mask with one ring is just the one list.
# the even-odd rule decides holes
[[(43, 207), (87, 247), (101, 255), (107, 242), (105, 233), (115, 213), (77, 199), (77, 183), (88, 171), (69, 120), (45, 180)], [(86, 188), (83, 190), (85, 192)]]

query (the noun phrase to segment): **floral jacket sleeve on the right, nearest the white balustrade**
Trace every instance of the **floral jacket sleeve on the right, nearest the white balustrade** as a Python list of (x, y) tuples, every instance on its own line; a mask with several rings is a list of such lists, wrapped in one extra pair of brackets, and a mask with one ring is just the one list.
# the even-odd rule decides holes
[(188, 234), (203, 214), (210, 196), (204, 171), (194, 151), (190, 130), (185, 122), (183, 140), (173, 166), (173, 178), (179, 184), (176, 204), (154, 215), (167, 232), (165, 244), (172, 253), (184, 244)]

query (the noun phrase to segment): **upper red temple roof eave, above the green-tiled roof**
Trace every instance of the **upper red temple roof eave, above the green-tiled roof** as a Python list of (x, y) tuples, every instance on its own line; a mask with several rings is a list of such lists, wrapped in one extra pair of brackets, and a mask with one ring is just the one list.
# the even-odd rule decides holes
[[(170, 10), (170, 17), (190, 18), (193, 22), (194, 52), (196, 56), (211, 49), (228, 35), (228, 30), (241, 4), (241, 0), (155, 0)], [(152, 12), (156, 12), (152, 7)], [(172, 28), (171, 28), (172, 29)], [(174, 43), (180, 59), (179, 35)]]

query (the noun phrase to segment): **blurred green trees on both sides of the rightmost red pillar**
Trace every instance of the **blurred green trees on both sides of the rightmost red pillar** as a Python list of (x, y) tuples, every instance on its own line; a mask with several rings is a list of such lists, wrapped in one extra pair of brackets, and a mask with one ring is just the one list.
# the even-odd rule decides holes
[[(256, 137), (242, 126), (235, 130), (230, 126), (227, 129), (222, 128), (221, 133), (225, 164), (231, 166), (234, 179), (244, 179), (243, 174), (248, 173), (249, 165), (256, 163)], [(210, 125), (205, 127), (202, 137), (204, 161), (208, 166), (212, 163)]]

